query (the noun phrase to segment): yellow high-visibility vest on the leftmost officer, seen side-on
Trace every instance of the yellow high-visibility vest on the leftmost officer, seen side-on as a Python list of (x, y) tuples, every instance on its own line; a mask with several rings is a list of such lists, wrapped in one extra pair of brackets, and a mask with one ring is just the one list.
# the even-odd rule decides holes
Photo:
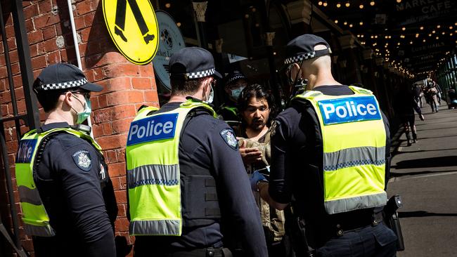
[(53, 237), (56, 235), (53, 228), (49, 224), (49, 216), (46, 213), (37, 186), (33, 179), (33, 167), (37, 150), (41, 141), (51, 133), (63, 131), (70, 133), (78, 138), (89, 140), (89, 142), (101, 152), (101, 147), (91, 136), (81, 131), (69, 128), (50, 129), (43, 133), (37, 133), (37, 130), (32, 130), (22, 137), (19, 142), (18, 154), (16, 156), (15, 170), (16, 183), (20, 197), (20, 206), (22, 209), (22, 221), (24, 222), (25, 233), (27, 235), (39, 237)]

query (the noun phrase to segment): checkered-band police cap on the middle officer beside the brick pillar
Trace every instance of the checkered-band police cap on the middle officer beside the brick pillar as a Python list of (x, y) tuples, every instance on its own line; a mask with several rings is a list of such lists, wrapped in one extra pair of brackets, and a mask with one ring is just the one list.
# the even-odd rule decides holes
[(184, 76), (186, 79), (199, 79), (216, 75), (212, 54), (200, 47), (186, 47), (177, 51), (169, 59), (169, 76)]

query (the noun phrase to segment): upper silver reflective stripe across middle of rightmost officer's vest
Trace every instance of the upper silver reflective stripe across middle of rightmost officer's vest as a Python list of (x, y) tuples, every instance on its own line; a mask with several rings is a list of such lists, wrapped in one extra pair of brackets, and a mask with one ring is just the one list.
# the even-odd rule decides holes
[(324, 171), (336, 171), (368, 164), (385, 164), (385, 147), (353, 147), (323, 154)]

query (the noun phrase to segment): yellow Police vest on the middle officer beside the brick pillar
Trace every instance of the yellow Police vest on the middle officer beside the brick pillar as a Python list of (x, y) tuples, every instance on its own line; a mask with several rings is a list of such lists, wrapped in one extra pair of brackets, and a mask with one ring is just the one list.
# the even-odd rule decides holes
[(127, 138), (127, 185), (130, 235), (171, 235), (182, 232), (179, 138), (187, 114), (210, 105), (188, 100), (170, 112), (156, 107), (139, 111)]

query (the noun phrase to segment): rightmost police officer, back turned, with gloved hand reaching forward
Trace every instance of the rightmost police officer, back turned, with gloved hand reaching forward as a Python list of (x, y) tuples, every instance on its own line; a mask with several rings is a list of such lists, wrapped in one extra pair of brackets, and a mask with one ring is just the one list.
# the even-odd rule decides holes
[(394, 256), (397, 237), (381, 222), (390, 135), (378, 100), (333, 79), (330, 46), (321, 37), (304, 34), (287, 51), (292, 80), (307, 79), (309, 91), (276, 118), (270, 181), (257, 173), (252, 187), (278, 209), (293, 195), (317, 256)]

